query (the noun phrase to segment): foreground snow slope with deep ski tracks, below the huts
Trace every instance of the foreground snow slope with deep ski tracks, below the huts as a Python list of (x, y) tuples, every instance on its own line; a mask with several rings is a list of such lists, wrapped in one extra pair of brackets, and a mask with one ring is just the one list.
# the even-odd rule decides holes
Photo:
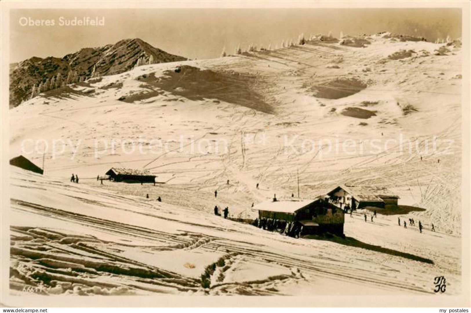
[(447, 278), (447, 294), (461, 290), (460, 239), (404, 229), (396, 216), (379, 214), (374, 223), (346, 216), (345, 234), (354, 239), (339, 244), (263, 231), (165, 197), (13, 167), (12, 176), (14, 293), (42, 281), (43, 294), (433, 294), (437, 273)]

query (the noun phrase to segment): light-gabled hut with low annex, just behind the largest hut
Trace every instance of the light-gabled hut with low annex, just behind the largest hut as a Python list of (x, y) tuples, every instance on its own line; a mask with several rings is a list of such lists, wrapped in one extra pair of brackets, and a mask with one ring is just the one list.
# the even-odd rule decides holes
[(344, 209), (349, 206), (359, 209), (366, 206), (397, 208), (399, 197), (384, 187), (341, 185), (327, 194), (330, 202)]

